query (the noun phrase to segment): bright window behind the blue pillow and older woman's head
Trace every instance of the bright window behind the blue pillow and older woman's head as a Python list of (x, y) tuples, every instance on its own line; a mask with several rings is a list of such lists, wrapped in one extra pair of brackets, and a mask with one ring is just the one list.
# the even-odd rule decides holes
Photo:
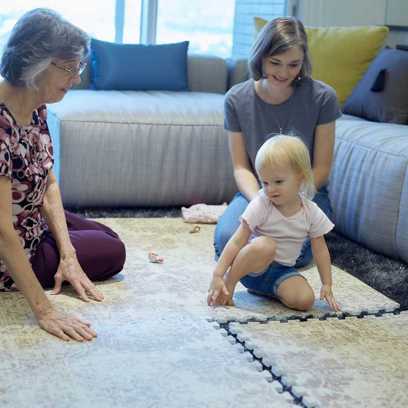
[[(142, 3), (155, 10), (151, 42), (188, 40), (189, 52), (230, 57), (236, 0), (12, 0), (0, 9), (0, 52), (14, 24), (25, 12), (47, 7), (99, 40), (139, 43)], [(154, 27), (153, 27), (154, 26)], [(156, 36), (155, 36), (156, 34)], [(155, 40), (156, 39), (156, 40)]]

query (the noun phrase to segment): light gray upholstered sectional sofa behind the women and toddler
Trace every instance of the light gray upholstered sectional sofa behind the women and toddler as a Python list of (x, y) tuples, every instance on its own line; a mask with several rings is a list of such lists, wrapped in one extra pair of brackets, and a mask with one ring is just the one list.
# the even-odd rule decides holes
[[(85, 71), (86, 72), (86, 71)], [(48, 105), (57, 173), (70, 207), (220, 204), (237, 191), (223, 94), (244, 60), (188, 57), (189, 92), (79, 88)], [(344, 115), (329, 195), (336, 231), (408, 262), (408, 125)]]

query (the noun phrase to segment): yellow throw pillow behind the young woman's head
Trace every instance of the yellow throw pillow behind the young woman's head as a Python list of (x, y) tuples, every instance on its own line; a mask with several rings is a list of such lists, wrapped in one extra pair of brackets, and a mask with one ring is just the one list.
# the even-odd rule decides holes
[[(254, 17), (258, 36), (267, 20)], [(367, 27), (305, 27), (312, 59), (312, 78), (336, 90), (340, 107), (351, 95), (368, 66), (380, 52), (389, 28)]]

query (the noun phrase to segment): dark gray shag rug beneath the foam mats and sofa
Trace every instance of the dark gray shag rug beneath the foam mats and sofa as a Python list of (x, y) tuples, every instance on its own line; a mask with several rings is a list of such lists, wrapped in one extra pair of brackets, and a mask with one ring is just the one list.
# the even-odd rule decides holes
[[(85, 218), (182, 216), (180, 207), (67, 210)], [(405, 262), (385, 257), (336, 232), (330, 232), (325, 238), (333, 265), (400, 303), (401, 311), (408, 310), (408, 265)]]

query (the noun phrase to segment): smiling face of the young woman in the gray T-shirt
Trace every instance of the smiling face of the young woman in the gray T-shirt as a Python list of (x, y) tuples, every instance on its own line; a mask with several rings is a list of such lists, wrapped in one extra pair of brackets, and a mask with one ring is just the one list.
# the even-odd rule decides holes
[(293, 47), (282, 54), (262, 59), (264, 76), (273, 87), (288, 87), (297, 78), (303, 62), (303, 49)]

